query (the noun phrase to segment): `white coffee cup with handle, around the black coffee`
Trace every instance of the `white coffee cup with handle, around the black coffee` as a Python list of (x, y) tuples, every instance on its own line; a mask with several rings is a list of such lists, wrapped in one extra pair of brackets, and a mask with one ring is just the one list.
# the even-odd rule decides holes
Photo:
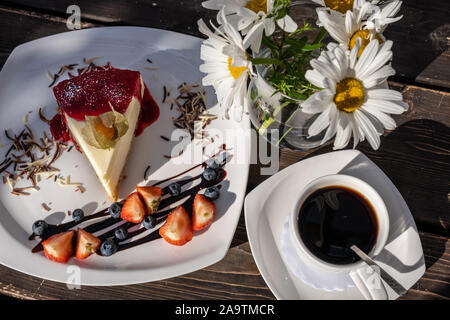
[[(370, 205), (374, 209), (374, 213), (378, 221), (378, 233), (375, 244), (368, 255), (369, 257), (374, 259), (383, 250), (389, 234), (389, 216), (383, 199), (375, 191), (375, 189), (366, 182), (353, 176), (343, 174), (327, 175), (317, 178), (306, 185), (305, 188), (303, 188), (303, 190), (300, 192), (298, 201), (292, 208), (289, 217), (289, 232), (293, 240), (292, 242), (294, 248), (299, 256), (302, 257), (302, 259), (308, 264), (308, 266), (313, 269), (319, 270), (319, 272), (350, 274), (351, 278), (355, 282), (355, 285), (360, 289), (360, 291), (366, 298), (387, 298), (386, 289), (384, 288), (381, 279), (379, 279), (379, 288), (378, 286), (374, 288), (373, 276), (378, 275), (374, 274), (373, 270), (370, 269), (365, 264), (365, 262), (359, 260), (355, 263), (350, 264), (329, 263), (314, 255), (306, 247), (302, 240), (302, 237), (300, 236), (300, 231), (298, 228), (298, 216), (303, 203), (315, 191), (332, 186), (346, 187), (355, 190), (359, 194), (361, 194), (367, 202), (370, 203)], [(369, 280), (371, 283), (368, 283)]]

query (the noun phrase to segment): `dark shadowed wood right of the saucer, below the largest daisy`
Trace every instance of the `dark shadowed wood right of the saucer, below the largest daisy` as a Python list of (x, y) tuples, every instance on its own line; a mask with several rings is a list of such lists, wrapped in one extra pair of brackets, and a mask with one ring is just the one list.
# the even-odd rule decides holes
[(419, 230), (450, 235), (450, 128), (432, 120), (412, 120), (384, 137), (379, 150), (360, 146), (392, 180)]

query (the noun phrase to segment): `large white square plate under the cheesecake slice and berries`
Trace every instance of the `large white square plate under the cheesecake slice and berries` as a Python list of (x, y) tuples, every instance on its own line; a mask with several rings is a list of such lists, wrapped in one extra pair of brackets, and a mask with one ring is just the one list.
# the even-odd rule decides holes
[[(170, 105), (161, 103), (163, 86), (176, 88), (183, 82), (199, 82), (201, 39), (170, 31), (138, 27), (95, 28), (67, 32), (25, 43), (11, 53), (0, 73), (0, 128), (2, 132), (20, 132), (24, 115), (29, 111), (29, 125), (36, 134), (48, 127), (38, 117), (39, 107), (44, 107), (47, 117), (53, 116), (57, 104), (46, 71), (56, 73), (60, 66), (82, 63), (83, 57), (104, 57), (97, 64), (110, 61), (114, 67), (140, 71), (161, 115), (157, 122), (138, 136), (133, 144), (121, 185), (120, 197), (131, 193), (142, 184), (144, 171), (151, 165), (148, 180), (162, 180), (182, 172), (193, 164), (178, 164), (163, 157), (171, 152), (171, 146), (160, 138), (170, 137), (173, 131), (171, 118), (176, 112)], [(153, 64), (146, 59), (150, 58)], [(157, 71), (144, 67), (157, 67)], [(215, 97), (208, 90), (208, 106), (215, 104)], [(209, 109), (219, 115), (218, 107)], [(241, 123), (214, 120), (208, 130), (249, 130), (249, 120)], [(249, 137), (249, 136), (248, 136)], [(0, 139), (0, 144), (5, 143)], [(244, 150), (250, 150), (250, 139), (242, 139)], [(173, 144), (172, 144), (173, 145)], [(7, 148), (0, 149), (0, 154)], [(213, 148), (212, 148), (213, 149)], [(214, 153), (211, 149), (211, 154)], [(230, 151), (233, 153), (233, 151)], [(179, 160), (179, 159), (177, 159)], [(0, 186), (0, 263), (33, 276), (66, 282), (69, 265), (81, 267), (82, 285), (124, 285), (155, 281), (192, 272), (211, 265), (224, 257), (234, 235), (241, 213), (249, 170), (249, 154), (240, 154), (240, 164), (226, 166), (227, 179), (222, 183), (221, 196), (216, 202), (214, 223), (206, 232), (195, 234), (192, 241), (182, 247), (169, 245), (162, 239), (140, 245), (111, 257), (91, 256), (84, 261), (71, 259), (68, 264), (47, 260), (43, 253), (32, 254), (36, 241), (29, 241), (33, 221), (48, 217), (48, 221), (65, 222), (71, 218), (68, 210), (83, 208), (86, 214), (96, 212), (107, 205), (105, 192), (97, 181), (88, 161), (73, 150), (58, 159), (55, 166), (71, 176), (73, 182), (83, 182), (84, 194), (70, 188), (61, 188), (51, 181), (40, 184), (41, 190), (27, 197), (10, 194), (7, 185)], [(201, 159), (197, 162), (200, 163)], [(201, 169), (189, 174), (198, 174)], [(43, 212), (41, 203), (50, 203), (52, 211)], [(102, 205), (103, 204), (103, 205)], [(145, 233), (146, 234), (146, 233)]]

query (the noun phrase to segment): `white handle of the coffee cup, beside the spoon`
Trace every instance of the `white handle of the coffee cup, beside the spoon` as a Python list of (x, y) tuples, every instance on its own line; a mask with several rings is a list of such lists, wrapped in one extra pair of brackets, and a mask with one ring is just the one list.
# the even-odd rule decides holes
[(352, 278), (356, 287), (366, 300), (389, 299), (380, 274), (375, 272), (371, 267), (366, 266), (355, 271), (350, 271), (350, 278)]

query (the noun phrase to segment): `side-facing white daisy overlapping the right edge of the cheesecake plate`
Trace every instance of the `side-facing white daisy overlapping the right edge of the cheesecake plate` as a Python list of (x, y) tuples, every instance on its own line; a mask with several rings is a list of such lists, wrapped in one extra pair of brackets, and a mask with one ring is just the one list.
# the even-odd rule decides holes
[(198, 21), (199, 31), (208, 36), (200, 49), (200, 58), (205, 62), (200, 71), (207, 74), (202, 83), (214, 87), (223, 115), (240, 121), (249, 104), (247, 79), (252, 64), (247, 60), (242, 36), (228, 22), (224, 10), (219, 15), (222, 26), (220, 29), (213, 26), (215, 32), (203, 20)]

